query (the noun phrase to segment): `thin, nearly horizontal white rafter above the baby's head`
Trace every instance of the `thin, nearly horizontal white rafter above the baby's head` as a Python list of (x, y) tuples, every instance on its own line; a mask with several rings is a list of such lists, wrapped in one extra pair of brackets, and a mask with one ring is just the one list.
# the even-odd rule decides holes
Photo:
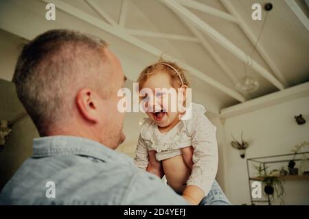
[(177, 34), (162, 34), (153, 31), (146, 31), (141, 29), (125, 29), (126, 33), (133, 36), (149, 36), (154, 38), (165, 38), (170, 40), (183, 40), (188, 42), (199, 42), (198, 38), (193, 36), (181, 36)]

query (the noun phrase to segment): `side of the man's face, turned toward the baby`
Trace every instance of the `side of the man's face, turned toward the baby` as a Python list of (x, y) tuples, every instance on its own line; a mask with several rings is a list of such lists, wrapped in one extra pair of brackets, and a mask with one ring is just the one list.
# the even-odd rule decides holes
[[(104, 107), (104, 113), (102, 113), (102, 138), (104, 142), (108, 141), (108, 146), (111, 149), (116, 149), (119, 144), (124, 142), (126, 136), (124, 135), (122, 128), (124, 123), (124, 113), (119, 112), (117, 104), (122, 96), (117, 96), (118, 90), (124, 88), (124, 82), (126, 77), (122, 70), (122, 66), (111, 51), (106, 49), (106, 56), (108, 58), (108, 70), (110, 74), (110, 80), (104, 81), (102, 86), (108, 86), (110, 88), (110, 96), (105, 101), (102, 101), (102, 107)], [(105, 143), (107, 144), (107, 143)]]

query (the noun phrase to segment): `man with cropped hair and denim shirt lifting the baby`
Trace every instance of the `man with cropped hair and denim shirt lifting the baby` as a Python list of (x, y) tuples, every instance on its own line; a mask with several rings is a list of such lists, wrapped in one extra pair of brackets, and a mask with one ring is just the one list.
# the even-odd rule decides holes
[[(41, 138), (3, 188), (0, 204), (187, 205), (113, 151), (125, 139), (117, 110), (125, 80), (108, 44), (94, 36), (58, 29), (25, 45), (13, 81)], [(228, 203), (216, 186), (205, 201)]]

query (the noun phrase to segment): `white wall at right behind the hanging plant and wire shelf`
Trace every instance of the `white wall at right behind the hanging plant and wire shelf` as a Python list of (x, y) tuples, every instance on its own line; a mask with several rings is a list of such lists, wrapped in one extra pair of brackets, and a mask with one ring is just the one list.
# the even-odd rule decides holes
[[(308, 103), (306, 96), (225, 120), (225, 183), (233, 204), (250, 204), (250, 196), (246, 159), (231, 147), (231, 134), (240, 138), (244, 131), (244, 140), (250, 144), (246, 158), (291, 153), (296, 144), (309, 141)], [(303, 114), (305, 125), (295, 122), (294, 116), (298, 114)], [(287, 164), (282, 166), (287, 169)], [(309, 205), (309, 181), (286, 181), (284, 199), (286, 204)]]

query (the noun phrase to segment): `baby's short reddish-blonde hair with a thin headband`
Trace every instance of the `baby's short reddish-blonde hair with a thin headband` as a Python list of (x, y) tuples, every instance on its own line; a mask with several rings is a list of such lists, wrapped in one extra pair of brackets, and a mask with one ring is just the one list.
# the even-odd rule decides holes
[(173, 88), (178, 88), (183, 85), (189, 87), (189, 82), (187, 81), (187, 77), (185, 77), (185, 75), (187, 75), (187, 70), (181, 68), (181, 66), (174, 62), (167, 62), (163, 60), (163, 58), (160, 58), (158, 62), (147, 66), (139, 74), (137, 79), (137, 83), (139, 83), (139, 91), (141, 91), (141, 88), (143, 88), (144, 83), (146, 83), (149, 77), (159, 72), (170, 75), (170, 84)]

